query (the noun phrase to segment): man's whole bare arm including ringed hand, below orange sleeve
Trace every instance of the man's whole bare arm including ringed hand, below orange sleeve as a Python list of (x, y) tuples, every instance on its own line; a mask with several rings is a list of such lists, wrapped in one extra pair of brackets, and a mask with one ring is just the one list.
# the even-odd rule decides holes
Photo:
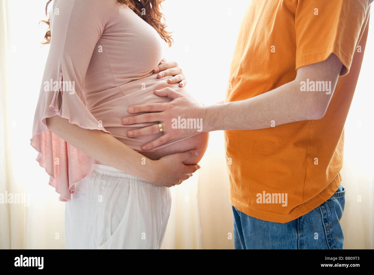
[[(142, 146), (143, 150), (150, 150), (169, 140), (196, 134), (196, 129), (173, 128), (172, 119), (178, 116), (186, 119), (202, 119), (203, 132), (269, 128), (272, 126), (272, 120), (275, 125), (282, 125), (295, 121), (321, 119), (334, 93), (342, 66), (339, 58), (331, 54), (325, 61), (298, 68), (295, 80), (272, 91), (247, 100), (211, 106), (199, 106), (171, 88), (165, 88), (155, 91), (155, 94), (172, 98), (170, 103), (132, 106), (129, 108), (129, 113), (148, 113), (125, 117), (123, 123), (129, 125), (160, 122), (164, 135)], [(326, 91), (301, 91), (301, 83), (307, 82), (307, 79), (309, 83), (327, 81)], [(129, 131), (128, 136), (149, 135), (158, 132), (158, 129), (155, 124)]]

